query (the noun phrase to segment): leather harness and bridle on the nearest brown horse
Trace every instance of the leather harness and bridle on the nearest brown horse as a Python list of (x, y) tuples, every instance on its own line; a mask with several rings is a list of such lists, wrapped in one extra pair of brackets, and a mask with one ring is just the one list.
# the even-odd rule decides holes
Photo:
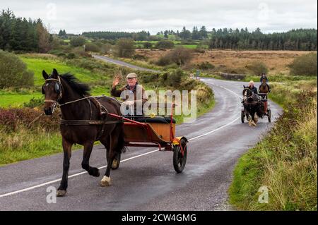
[[(100, 137), (102, 136), (102, 134), (104, 133), (105, 131), (105, 126), (106, 125), (109, 125), (109, 124), (114, 124), (114, 123), (123, 123), (122, 120), (116, 120), (116, 121), (107, 121), (107, 118), (108, 118), (108, 111), (106, 109), (106, 107), (104, 107), (102, 104), (100, 104), (100, 102), (98, 101), (98, 98), (101, 98), (101, 97), (107, 97), (105, 95), (102, 95), (102, 96), (84, 96), (83, 98), (81, 99), (76, 99), (74, 101), (71, 101), (71, 102), (65, 102), (63, 104), (59, 104), (59, 100), (61, 99), (62, 97), (62, 91), (61, 91), (61, 80), (58, 76), (58, 79), (54, 79), (54, 78), (49, 78), (47, 80), (45, 80), (45, 83), (47, 83), (47, 81), (50, 81), (50, 80), (53, 80), (53, 81), (56, 81), (55, 85), (54, 85), (54, 90), (55, 92), (57, 92), (57, 95), (58, 98), (57, 100), (52, 100), (52, 99), (45, 99), (45, 102), (51, 102), (53, 105), (53, 109), (52, 109), (52, 113), (54, 112), (54, 109), (59, 106), (59, 107), (62, 107), (66, 104), (72, 104), (74, 102), (80, 102), (82, 100), (87, 100), (88, 101), (88, 104), (90, 106), (90, 119), (89, 120), (66, 120), (66, 119), (63, 119), (61, 118), (60, 119), (60, 124), (61, 125), (65, 125), (65, 126), (86, 126), (86, 125), (100, 125), (102, 126), (100, 132), (99, 132), (99, 135), (98, 135), (98, 138), (96, 140), (99, 140)], [(44, 90), (44, 86), (42, 86), (42, 94), (45, 94), (45, 90)], [(110, 99), (114, 99), (112, 97), (108, 97)], [(122, 102), (120, 102), (119, 100), (115, 99), (119, 104), (122, 104)], [(102, 118), (102, 120), (93, 120), (93, 108), (92, 108), (92, 104), (91, 102), (93, 102), (93, 104), (95, 104), (95, 107), (98, 109), (99, 111), (99, 115), (100, 117)]]

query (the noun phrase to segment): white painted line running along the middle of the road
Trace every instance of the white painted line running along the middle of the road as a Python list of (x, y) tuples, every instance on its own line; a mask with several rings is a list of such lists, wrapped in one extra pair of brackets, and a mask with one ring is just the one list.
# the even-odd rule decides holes
[[(214, 85), (214, 84), (213, 84), (213, 85)], [(224, 88), (225, 90), (228, 90), (228, 91), (234, 93), (235, 95), (237, 95), (237, 94), (236, 94), (235, 92), (233, 92), (232, 90), (229, 90), (229, 89), (226, 88), (226, 87), (223, 87), (223, 88)], [(240, 96), (237, 95), (237, 97), (240, 97)], [(196, 136), (196, 137), (194, 137), (194, 138), (190, 138), (189, 140), (195, 140), (195, 139), (197, 139), (197, 138), (201, 138), (201, 137), (206, 136), (206, 135), (208, 135), (208, 134), (210, 134), (210, 133), (216, 132), (217, 130), (220, 130), (220, 129), (222, 129), (222, 128), (225, 128), (226, 126), (230, 126), (230, 124), (234, 123), (234, 122), (237, 121), (237, 119), (239, 119), (239, 118), (240, 118), (240, 116), (237, 117), (237, 118), (235, 118), (235, 120), (231, 121), (230, 123), (227, 123), (227, 124), (225, 124), (225, 125), (223, 125), (223, 126), (220, 126), (219, 128), (216, 128), (215, 130), (211, 130), (211, 131), (209, 131), (209, 132), (207, 132), (207, 133), (204, 133), (203, 135), (199, 135), (199, 136)], [(158, 152), (158, 151), (159, 151), (159, 150), (153, 150), (153, 151), (151, 151), (151, 152), (146, 152), (146, 153), (143, 153), (143, 154), (139, 154), (139, 155), (136, 155), (136, 156), (134, 156), (134, 157), (130, 157), (130, 158), (128, 158), (128, 159), (124, 159), (124, 160), (122, 160), (121, 162), (126, 162), (126, 161), (129, 161), (129, 160), (131, 160), (131, 159), (136, 159), (136, 158), (138, 158), (138, 157), (143, 157), (144, 155), (151, 154), (151, 153), (153, 153), (153, 152)], [(103, 168), (105, 168), (105, 167), (107, 167), (107, 165), (106, 165), (106, 166), (100, 166), (100, 167), (98, 167), (98, 169), (103, 169)], [(83, 172), (80, 172), (80, 173), (77, 173), (77, 174), (73, 174), (73, 175), (69, 176), (69, 178), (72, 178), (72, 177), (75, 177), (75, 176), (80, 176), (80, 175), (82, 175), (82, 174), (87, 174), (87, 171), (83, 171)], [(31, 186), (31, 187), (29, 187), (29, 188), (24, 188), (24, 189), (21, 189), (21, 190), (16, 190), (16, 191), (13, 191), (13, 192), (11, 192), (11, 193), (6, 193), (6, 194), (3, 194), (3, 195), (0, 195), (0, 197), (6, 197), (6, 196), (9, 196), (9, 195), (15, 195), (15, 194), (22, 193), (22, 192), (25, 192), (25, 191), (28, 191), (28, 190), (33, 190), (33, 189), (35, 189), (35, 188), (40, 188), (40, 187), (43, 187), (43, 186), (47, 186), (47, 185), (49, 185), (49, 184), (51, 184), (51, 183), (57, 183), (57, 182), (59, 182), (59, 181), (61, 181), (61, 178), (56, 179), (56, 180), (54, 180), (54, 181), (48, 181), (48, 182), (45, 182), (45, 183), (40, 183), (40, 184), (38, 184), (38, 185), (36, 185), (36, 186)]]

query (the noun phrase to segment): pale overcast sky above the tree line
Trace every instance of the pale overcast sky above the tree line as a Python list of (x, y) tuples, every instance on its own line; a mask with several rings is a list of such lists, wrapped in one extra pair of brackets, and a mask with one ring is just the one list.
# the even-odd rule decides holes
[(41, 18), (50, 32), (259, 27), (263, 32), (317, 28), (317, 0), (0, 0), (17, 17)]

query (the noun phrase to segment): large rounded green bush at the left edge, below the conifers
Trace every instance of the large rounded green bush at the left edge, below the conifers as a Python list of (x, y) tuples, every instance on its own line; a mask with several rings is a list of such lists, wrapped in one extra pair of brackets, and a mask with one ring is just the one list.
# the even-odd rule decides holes
[(18, 56), (0, 50), (0, 88), (33, 86), (33, 75)]

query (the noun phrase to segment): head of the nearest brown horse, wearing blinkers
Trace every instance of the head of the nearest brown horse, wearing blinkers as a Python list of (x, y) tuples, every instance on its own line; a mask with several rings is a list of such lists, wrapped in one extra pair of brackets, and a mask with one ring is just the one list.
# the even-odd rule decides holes
[(44, 70), (42, 71), (45, 83), (42, 85), (42, 94), (45, 95), (45, 114), (52, 115), (57, 103), (62, 97), (61, 79), (57, 70), (54, 68), (51, 75), (48, 75)]

